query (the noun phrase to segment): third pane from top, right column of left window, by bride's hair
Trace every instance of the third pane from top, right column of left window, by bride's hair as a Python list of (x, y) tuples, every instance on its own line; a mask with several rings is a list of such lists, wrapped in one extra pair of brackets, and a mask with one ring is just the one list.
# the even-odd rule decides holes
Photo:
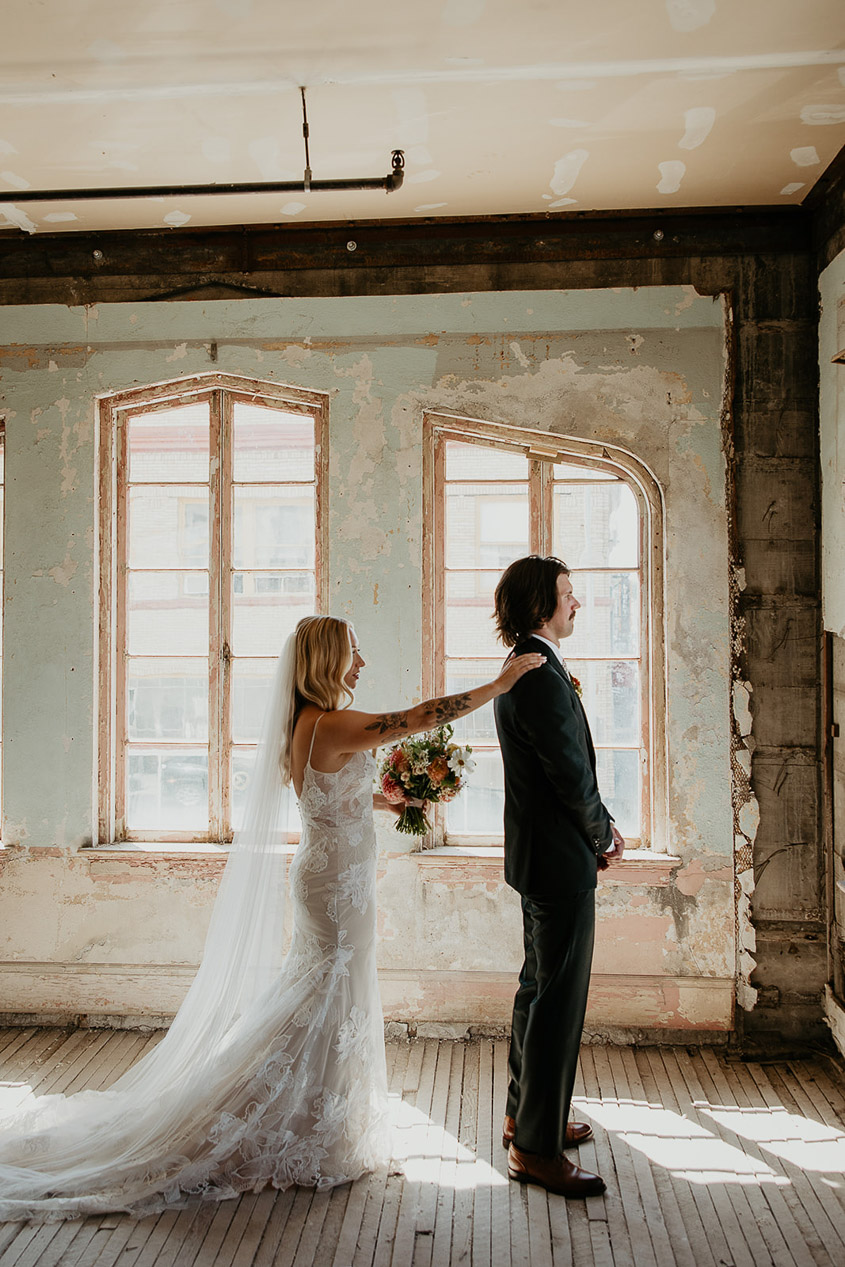
[(232, 576), (232, 650), (279, 655), (296, 621), (314, 611), (314, 574), (236, 571)]

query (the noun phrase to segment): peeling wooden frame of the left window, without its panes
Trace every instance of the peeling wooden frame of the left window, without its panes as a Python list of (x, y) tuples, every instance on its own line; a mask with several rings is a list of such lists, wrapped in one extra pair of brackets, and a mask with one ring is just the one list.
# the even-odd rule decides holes
[[(138, 413), (171, 409), (205, 400), (210, 409), (212, 450), (209, 487), (217, 508), (210, 528), (209, 574), (209, 831), (128, 831), (125, 826), (125, 788), (123, 745), (125, 742), (125, 674), (122, 650), (125, 646), (125, 419)], [(328, 597), (328, 395), (302, 388), (239, 375), (209, 372), (156, 383), (98, 398), (98, 688), (96, 688), (96, 812), (98, 843), (144, 844), (200, 851), (215, 851), (232, 839), (224, 830), (231, 821), (231, 789), (223, 775), (228, 753), (231, 716), (229, 644), (232, 604), (223, 584), (222, 541), (232, 533), (232, 499), (223, 489), (232, 487), (232, 446), (220, 441), (232, 428), (236, 402), (303, 413), (314, 419), (314, 573), (315, 609), (326, 611)], [(217, 437), (217, 454), (215, 454)], [(215, 456), (219, 461), (215, 462)], [(281, 650), (281, 649), (279, 649)]]

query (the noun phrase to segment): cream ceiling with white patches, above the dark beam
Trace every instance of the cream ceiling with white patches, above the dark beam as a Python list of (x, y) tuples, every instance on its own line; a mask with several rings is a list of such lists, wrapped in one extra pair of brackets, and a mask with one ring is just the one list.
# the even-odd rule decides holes
[[(24, 203), (314, 180), (393, 193)], [(842, 0), (5, 0), (0, 227), (801, 203), (845, 144)]]

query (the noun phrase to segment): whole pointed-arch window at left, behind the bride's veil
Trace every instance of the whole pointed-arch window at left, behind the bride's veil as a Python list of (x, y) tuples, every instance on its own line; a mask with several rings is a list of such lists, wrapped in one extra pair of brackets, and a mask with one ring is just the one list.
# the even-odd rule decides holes
[(323, 395), (100, 402), (100, 840), (226, 841), (281, 644), (322, 606)]

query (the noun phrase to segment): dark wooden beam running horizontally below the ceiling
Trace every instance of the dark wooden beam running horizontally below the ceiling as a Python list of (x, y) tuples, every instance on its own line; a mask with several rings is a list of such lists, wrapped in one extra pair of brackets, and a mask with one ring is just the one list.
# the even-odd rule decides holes
[(680, 276), (690, 258), (812, 250), (812, 213), (799, 207), (32, 236), (15, 229), (0, 233), (0, 303), (579, 286), (627, 267), (639, 279), (631, 284), (646, 284), (652, 274), (654, 281)]

